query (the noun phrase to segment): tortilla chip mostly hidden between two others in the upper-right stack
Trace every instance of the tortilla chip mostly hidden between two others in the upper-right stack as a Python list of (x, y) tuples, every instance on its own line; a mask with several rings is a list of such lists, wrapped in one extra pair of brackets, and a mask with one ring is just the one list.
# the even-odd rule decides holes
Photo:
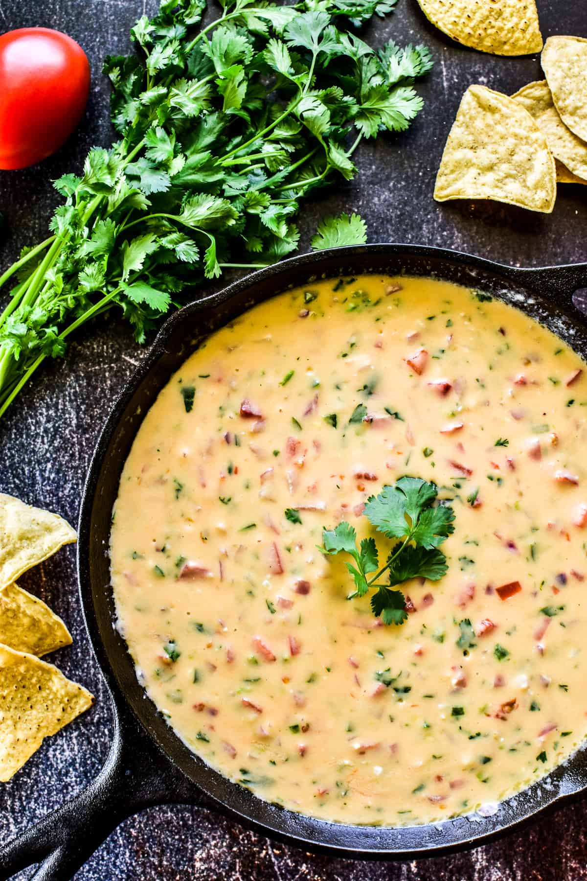
[[(567, 128), (554, 107), (546, 79), (538, 83), (529, 83), (511, 96), (522, 104), (528, 113), (538, 122), (539, 129), (544, 132), (547, 144), (554, 159), (569, 168), (577, 177), (587, 181), (587, 144), (576, 137)], [(587, 100), (587, 96), (585, 97)]]

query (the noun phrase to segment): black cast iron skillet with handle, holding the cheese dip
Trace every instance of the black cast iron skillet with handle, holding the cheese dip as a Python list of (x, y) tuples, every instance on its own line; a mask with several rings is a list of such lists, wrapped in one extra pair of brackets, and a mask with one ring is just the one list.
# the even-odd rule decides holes
[[(371, 245), (303, 255), (256, 272), (172, 315), (114, 406), (93, 455), (79, 522), (78, 574), (85, 623), (114, 705), (114, 743), (93, 783), (0, 848), (0, 881), (41, 862), (36, 881), (71, 878), (122, 819), (159, 803), (222, 811), (271, 838), (334, 855), (416, 859), (479, 845), (587, 787), (587, 757), (566, 765), (485, 817), (403, 828), (341, 825), (263, 802), (197, 759), (145, 696), (114, 629), (107, 555), (122, 465), (145, 412), (202, 338), (290, 285), (361, 272), (433, 276), (478, 287), (523, 309), (587, 359), (587, 263), (515, 269), (437, 248)], [(584, 288), (585, 290), (580, 290)]]

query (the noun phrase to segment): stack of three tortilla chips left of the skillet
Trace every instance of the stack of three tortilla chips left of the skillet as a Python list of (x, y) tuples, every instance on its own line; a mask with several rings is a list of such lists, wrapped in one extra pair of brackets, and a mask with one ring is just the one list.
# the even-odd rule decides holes
[(0, 493), (0, 781), (8, 781), (49, 737), (92, 706), (40, 655), (70, 645), (62, 619), (16, 579), (76, 533), (61, 517)]

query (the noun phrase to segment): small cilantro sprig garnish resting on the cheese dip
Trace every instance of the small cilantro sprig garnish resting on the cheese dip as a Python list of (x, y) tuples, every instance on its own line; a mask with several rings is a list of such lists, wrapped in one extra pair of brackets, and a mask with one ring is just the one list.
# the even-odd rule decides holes
[[(348, 553), (353, 563), (345, 563), (355, 581), (355, 590), (348, 599), (364, 596), (377, 588), (371, 596), (373, 614), (385, 624), (403, 624), (407, 619), (406, 598), (396, 585), (411, 578), (439, 581), (447, 572), (446, 557), (438, 550), (444, 539), (454, 532), (454, 512), (449, 505), (437, 499), (437, 486), (421, 478), (400, 478), (393, 486), (384, 486), (378, 496), (371, 496), (364, 515), (387, 538), (400, 539), (389, 554), (385, 566), (379, 568), (378, 548), (373, 537), (363, 538), (356, 547), (356, 529), (347, 522), (335, 529), (324, 529), (322, 534), (325, 554)], [(367, 576), (376, 572), (371, 579)], [(388, 585), (378, 579), (388, 572)]]

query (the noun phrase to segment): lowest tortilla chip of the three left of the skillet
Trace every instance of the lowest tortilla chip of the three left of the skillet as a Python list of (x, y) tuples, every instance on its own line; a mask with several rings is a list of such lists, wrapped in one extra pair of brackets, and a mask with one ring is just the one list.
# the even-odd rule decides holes
[(53, 664), (0, 645), (0, 781), (10, 780), (44, 737), (92, 707), (93, 700)]

